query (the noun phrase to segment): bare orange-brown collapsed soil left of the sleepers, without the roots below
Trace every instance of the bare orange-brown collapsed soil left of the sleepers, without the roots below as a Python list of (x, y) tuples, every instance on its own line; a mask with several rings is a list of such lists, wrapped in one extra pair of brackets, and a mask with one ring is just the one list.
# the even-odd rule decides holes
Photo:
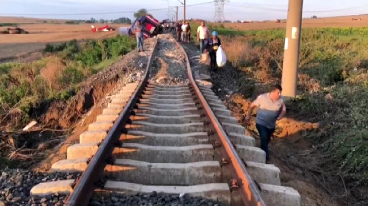
[(132, 51), (109, 68), (91, 77), (90, 81), (84, 83), (84, 89), (81, 89), (63, 110), (57, 106), (47, 110), (46, 115), (42, 116), (46, 122), (58, 119), (60, 126), (67, 128), (75, 126), (75, 129), (60, 147), (54, 148), (49, 157), (35, 168), (36, 171), (48, 171), (53, 163), (66, 159), (67, 148), (79, 142), (79, 135), (88, 129), (88, 125), (95, 122), (103, 108), (107, 107), (109, 99), (106, 97), (117, 93), (125, 84), (141, 79), (154, 41), (154, 39), (145, 41), (147, 51), (139, 53)]

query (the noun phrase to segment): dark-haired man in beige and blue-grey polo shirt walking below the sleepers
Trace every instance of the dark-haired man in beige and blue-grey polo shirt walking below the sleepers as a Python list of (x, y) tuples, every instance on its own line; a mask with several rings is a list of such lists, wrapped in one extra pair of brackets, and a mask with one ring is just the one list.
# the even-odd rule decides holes
[(266, 152), (266, 161), (269, 161), (268, 143), (271, 135), (275, 132), (276, 120), (281, 119), (286, 114), (286, 106), (280, 98), (281, 91), (281, 86), (276, 84), (270, 92), (259, 95), (249, 106), (248, 115), (245, 118), (248, 124), (253, 109), (258, 108), (256, 128), (261, 138), (261, 149)]

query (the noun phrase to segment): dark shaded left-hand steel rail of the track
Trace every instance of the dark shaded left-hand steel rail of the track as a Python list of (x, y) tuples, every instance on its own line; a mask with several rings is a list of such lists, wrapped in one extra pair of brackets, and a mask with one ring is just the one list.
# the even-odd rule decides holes
[(95, 191), (96, 184), (101, 180), (103, 171), (119, 137), (124, 132), (125, 124), (127, 123), (135, 104), (138, 102), (144, 88), (148, 83), (149, 73), (151, 72), (152, 56), (157, 46), (157, 40), (153, 46), (152, 54), (149, 56), (146, 72), (138, 87), (135, 89), (129, 101), (125, 104), (123, 111), (118, 119), (107, 133), (106, 138), (100, 144), (97, 152), (89, 161), (86, 170), (82, 173), (79, 180), (73, 188), (73, 191), (68, 196), (64, 205), (67, 206), (84, 206), (87, 205)]

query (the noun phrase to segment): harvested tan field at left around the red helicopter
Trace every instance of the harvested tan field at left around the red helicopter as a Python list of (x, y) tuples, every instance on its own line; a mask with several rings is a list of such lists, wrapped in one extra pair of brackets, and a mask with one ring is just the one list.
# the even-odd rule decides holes
[[(29, 32), (29, 34), (22, 35), (0, 34), (0, 62), (14, 59), (29, 61), (39, 58), (39, 53), (33, 53), (45, 48), (47, 43), (60, 43), (72, 39), (102, 39), (117, 34), (117, 30), (114, 32), (92, 33), (91, 24), (68, 25), (63, 20), (55, 19), (0, 17), (0, 23), (15, 23), (18, 24), (18, 27)], [(96, 27), (104, 26), (102, 24), (94, 25)], [(111, 26), (118, 28), (127, 25), (114, 24)], [(0, 26), (0, 31), (7, 27), (9, 26)], [(35, 58), (29, 58), (30, 56)]]

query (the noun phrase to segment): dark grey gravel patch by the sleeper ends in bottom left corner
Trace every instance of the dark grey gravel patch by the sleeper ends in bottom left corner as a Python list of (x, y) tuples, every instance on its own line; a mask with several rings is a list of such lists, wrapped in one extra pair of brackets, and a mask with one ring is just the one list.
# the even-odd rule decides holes
[[(0, 206), (63, 205), (65, 195), (30, 196), (29, 191), (40, 182), (75, 179), (79, 173), (40, 173), (30, 170), (0, 170)], [(62, 197), (64, 196), (64, 197)]]

